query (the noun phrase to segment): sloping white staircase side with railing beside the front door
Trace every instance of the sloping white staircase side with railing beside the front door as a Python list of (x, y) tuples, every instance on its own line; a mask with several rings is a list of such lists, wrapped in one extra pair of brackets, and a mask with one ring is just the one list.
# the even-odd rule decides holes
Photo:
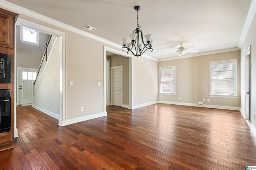
[(38, 90), (38, 87), (40, 85), (42, 77), (44, 75), (44, 71), (45, 71), (45, 68), (46, 68), (47, 63), (48, 63), (47, 61), (51, 57), (52, 49), (53, 49), (53, 47), (54, 47), (54, 45), (57, 41), (57, 38), (58, 37), (56, 37), (54, 35), (50, 35), (50, 37), (48, 39), (48, 42), (46, 43), (46, 49), (44, 51), (44, 55), (43, 55), (41, 64), (40, 64), (39, 69), (38, 69), (38, 73), (36, 75), (36, 80), (34, 81), (33, 101), (34, 101), (34, 97), (36, 96), (36, 92)]

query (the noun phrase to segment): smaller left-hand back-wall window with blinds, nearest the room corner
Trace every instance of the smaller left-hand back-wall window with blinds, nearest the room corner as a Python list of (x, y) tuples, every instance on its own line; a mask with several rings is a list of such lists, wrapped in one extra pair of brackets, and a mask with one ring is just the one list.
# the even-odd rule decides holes
[(160, 93), (175, 94), (175, 66), (159, 68)]

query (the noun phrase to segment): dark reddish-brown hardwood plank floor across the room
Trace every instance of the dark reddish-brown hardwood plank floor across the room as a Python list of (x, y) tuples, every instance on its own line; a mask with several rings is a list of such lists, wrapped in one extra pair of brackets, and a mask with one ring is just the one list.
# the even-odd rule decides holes
[(64, 127), (17, 106), (18, 139), (0, 170), (245, 170), (256, 138), (239, 111), (154, 104), (107, 107), (108, 116)]

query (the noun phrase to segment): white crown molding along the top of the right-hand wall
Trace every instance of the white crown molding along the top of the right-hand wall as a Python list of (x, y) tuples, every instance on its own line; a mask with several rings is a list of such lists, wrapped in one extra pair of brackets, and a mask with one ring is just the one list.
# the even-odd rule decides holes
[(246, 35), (248, 33), (248, 30), (251, 26), (252, 20), (253, 20), (254, 15), (255, 15), (255, 12), (256, 12), (256, 0), (252, 0), (249, 11), (248, 11), (248, 14), (247, 14), (247, 17), (246, 17), (246, 20), (245, 20), (245, 23), (244, 23), (244, 28), (243, 28), (243, 31), (242, 31), (242, 34), (241, 34), (241, 37), (240, 37), (240, 40), (239, 40), (239, 43), (238, 43), (238, 48), (239, 49), (241, 49), (242, 45), (244, 44), (244, 40), (245, 40)]

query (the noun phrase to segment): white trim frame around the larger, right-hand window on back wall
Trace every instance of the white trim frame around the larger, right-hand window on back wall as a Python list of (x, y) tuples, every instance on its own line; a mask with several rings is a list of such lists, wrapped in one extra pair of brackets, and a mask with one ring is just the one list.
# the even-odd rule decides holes
[[(212, 64), (216, 63), (234, 63), (234, 94), (233, 95), (218, 95), (212, 94)], [(210, 97), (215, 98), (237, 98), (237, 59), (221, 60), (221, 61), (210, 61), (209, 62), (209, 71), (210, 71)]]

